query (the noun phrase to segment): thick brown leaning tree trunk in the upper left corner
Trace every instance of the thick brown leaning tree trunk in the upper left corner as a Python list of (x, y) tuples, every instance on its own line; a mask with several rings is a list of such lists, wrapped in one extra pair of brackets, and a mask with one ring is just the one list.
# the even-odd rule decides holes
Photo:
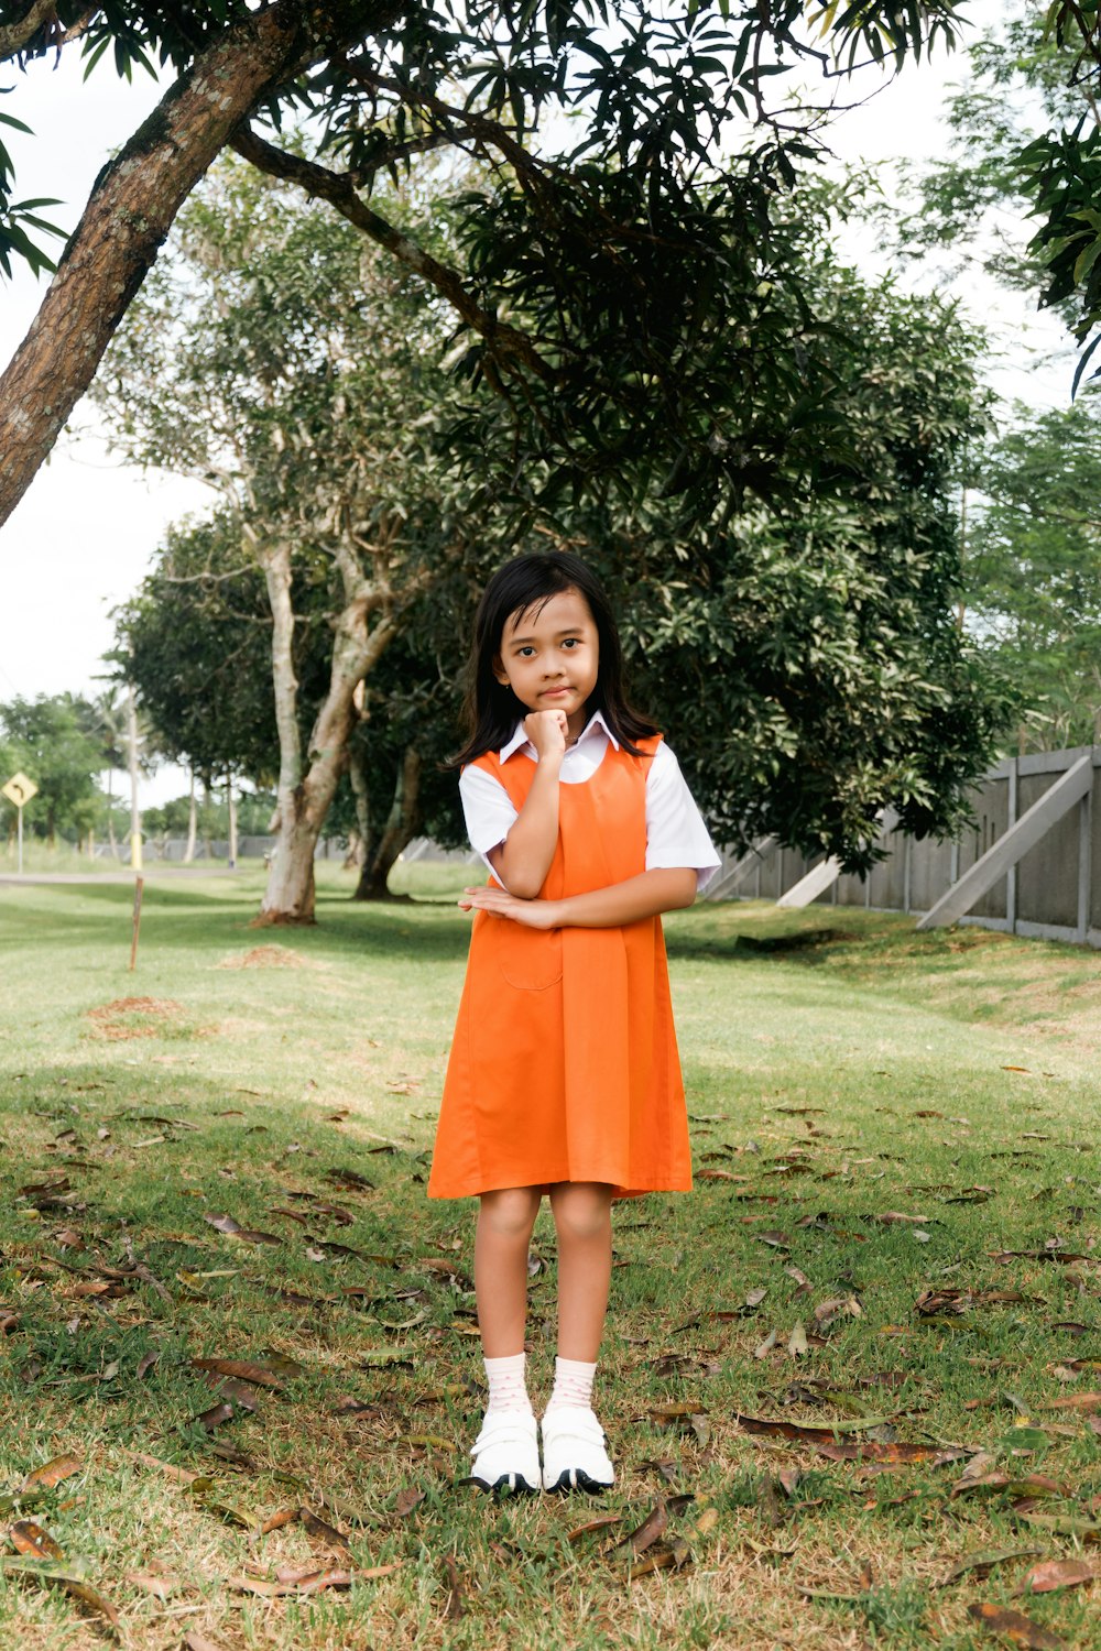
[(96, 375), (172, 221), (234, 125), (286, 78), (302, 0), (226, 28), (104, 168), (0, 378), (0, 523), (15, 510)]

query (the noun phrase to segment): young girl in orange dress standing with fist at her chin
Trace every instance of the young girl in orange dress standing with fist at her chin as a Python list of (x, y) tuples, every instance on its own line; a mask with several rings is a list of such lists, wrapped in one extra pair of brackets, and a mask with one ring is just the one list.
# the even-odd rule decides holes
[[(624, 698), (607, 598), (565, 551), (520, 556), (475, 619), (474, 733), (459, 756), (470, 958), (429, 1197), (480, 1200), (474, 1250), (489, 1408), (485, 1489), (614, 1481), (591, 1408), (612, 1199), (692, 1187), (660, 913), (718, 865), (662, 736)], [(558, 1232), (558, 1359), (543, 1464), (525, 1387), (528, 1242)]]

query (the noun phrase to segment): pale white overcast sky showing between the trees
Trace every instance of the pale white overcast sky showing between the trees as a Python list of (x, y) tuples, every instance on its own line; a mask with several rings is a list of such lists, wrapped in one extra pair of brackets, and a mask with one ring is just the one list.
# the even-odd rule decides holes
[[(994, 21), (999, 0), (972, 0), (977, 25)], [(104, 160), (158, 102), (163, 88), (135, 73), (127, 86), (107, 63), (81, 84), (79, 58), (64, 51), (33, 63), (26, 74), (5, 66), (12, 92), (0, 109), (33, 129), (33, 137), (5, 129), (17, 168), (17, 196), (58, 196), (46, 216), (71, 229)], [(939, 51), (933, 63), (908, 66), (881, 94), (850, 111), (837, 124), (832, 147), (840, 162), (895, 163), (944, 152), (941, 121), (944, 88), (962, 73), (959, 56)], [(867, 88), (868, 79), (863, 81)], [(888, 167), (886, 182), (890, 187)], [(875, 269), (877, 248), (857, 236), (853, 256)], [(0, 281), (0, 365), (23, 338), (41, 296), (17, 267)], [(967, 296), (985, 319), (997, 314), (1015, 347), (997, 373), (997, 390), (1012, 398), (1051, 404), (1070, 393), (1070, 370), (1040, 370), (1028, 345), (1053, 348), (1061, 332), (1025, 300), (995, 289)], [(102, 654), (112, 644), (111, 609), (139, 584), (167, 528), (188, 512), (201, 512), (211, 495), (198, 482), (167, 474), (142, 474), (107, 451), (94, 409), (83, 403), (71, 429), (58, 441), (26, 497), (0, 530), (0, 700), (38, 693), (102, 692), (107, 670)], [(142, 804), (152, 806), (187, 789), (182, 769), (165, 766), (142, 783)]]

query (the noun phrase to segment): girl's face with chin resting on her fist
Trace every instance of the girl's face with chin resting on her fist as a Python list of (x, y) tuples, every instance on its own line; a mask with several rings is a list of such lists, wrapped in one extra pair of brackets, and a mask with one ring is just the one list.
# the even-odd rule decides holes
[(601, 664), (599, 634), (581, 591), (522, 608), (505, 622), (494, 675), (530, 712), (565, 712), (571, 735), (584, 728), (584, 707)]

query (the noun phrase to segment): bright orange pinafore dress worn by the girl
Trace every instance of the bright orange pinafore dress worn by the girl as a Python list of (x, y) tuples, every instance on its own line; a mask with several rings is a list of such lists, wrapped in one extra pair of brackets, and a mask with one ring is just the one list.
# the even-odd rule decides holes
[[(560, 786), (543, 900), (645, 870), (644, 756), (609, 745), (589, 779)], [(535, 761), (477, 758), (522, 809)], [(436, 1151), (432, 1199), (601, 1180), (616, 1197), (692, 1187), (688, 1119), (660, 918), (532, 930), (475, 911)]]

